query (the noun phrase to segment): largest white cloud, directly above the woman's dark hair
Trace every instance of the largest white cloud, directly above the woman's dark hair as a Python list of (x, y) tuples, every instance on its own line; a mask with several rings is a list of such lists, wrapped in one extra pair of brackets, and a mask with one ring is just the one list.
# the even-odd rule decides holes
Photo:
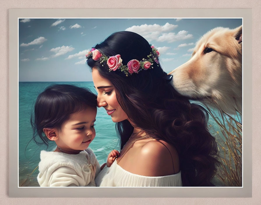
[(131, 26), (125, 29), (125, 31), (132, 31), (138, 33), (144, 38), (146, 38), (146, 40), (148, 41), (158, 41), (158, 37), (161, 35), (161, 33), (172, 31), (173, 29), (177, 28), (177, 26), (178, 25), (169, 24), (168, 22), (163, 26), (159, 24), (142, 24), (140, 26)]

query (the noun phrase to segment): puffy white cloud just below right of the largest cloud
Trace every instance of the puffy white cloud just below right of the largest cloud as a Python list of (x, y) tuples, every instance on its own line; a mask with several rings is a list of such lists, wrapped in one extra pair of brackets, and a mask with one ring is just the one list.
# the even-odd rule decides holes
[(158, 41), (163, 42), (167, 41), (168, 43), (172, 43), (177, 40), (185, 40), (193, 38), (192, 34), (188, 34), (188, 31), (179, 31), (177, 34), (175, 33), (163, 33), (160, 37), (158, 37)]

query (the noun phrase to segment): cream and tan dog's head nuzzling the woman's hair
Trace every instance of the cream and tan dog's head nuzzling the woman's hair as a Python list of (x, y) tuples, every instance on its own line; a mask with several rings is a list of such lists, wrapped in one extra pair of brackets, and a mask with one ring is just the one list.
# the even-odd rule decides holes
[(217, 27), (196, 43), (191, 59), (169, 73), (183, 96), (217, 107), (229, 114), (242, 113), (242, 25)]

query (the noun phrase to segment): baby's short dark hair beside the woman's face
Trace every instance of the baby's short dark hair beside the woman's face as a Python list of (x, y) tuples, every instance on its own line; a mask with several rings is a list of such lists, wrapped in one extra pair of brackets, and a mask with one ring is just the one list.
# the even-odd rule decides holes
[[(88, 107), (97, 109), (97, 96), (87, 88), (74, 85), (54, 84), (48, 86), (39, 94), (34, 106), (34, 115), (31, 115), (33, 140), (36, 144), (46, 144), (48, 138), (43, 128), (57, 128), (66, 122), (70, 114), (79, 112)], [(38, 141), (38, 136), (41, 141)]]

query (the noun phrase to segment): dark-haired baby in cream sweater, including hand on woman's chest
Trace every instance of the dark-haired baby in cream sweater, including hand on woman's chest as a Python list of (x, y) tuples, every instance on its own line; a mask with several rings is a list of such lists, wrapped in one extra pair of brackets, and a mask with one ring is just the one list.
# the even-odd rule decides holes
[[(40, 153), (37, 180), (42, 187), (95, 186), (100, 165), (88, 148), (95, 137), (96, 95), (73, 85), (52, 85), (38, 96), (34, 107), (34, 140), (54, 141), (54, 151)], [(43, 141), (36, 140), (37, 135)], [(118, 152), (109, 154), (107, 166)]]

